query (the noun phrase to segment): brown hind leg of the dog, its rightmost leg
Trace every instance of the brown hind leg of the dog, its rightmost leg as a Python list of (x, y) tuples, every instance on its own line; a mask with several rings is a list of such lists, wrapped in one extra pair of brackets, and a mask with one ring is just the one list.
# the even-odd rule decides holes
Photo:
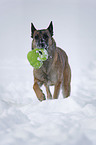
[(63, 72), (63, 82), (62, 82), (62, 93), (63, 97), (67, 98), (70, 96), (70, 91), (71, 91), (71, 69), (69, 64), (65, 64), (64, 72)]

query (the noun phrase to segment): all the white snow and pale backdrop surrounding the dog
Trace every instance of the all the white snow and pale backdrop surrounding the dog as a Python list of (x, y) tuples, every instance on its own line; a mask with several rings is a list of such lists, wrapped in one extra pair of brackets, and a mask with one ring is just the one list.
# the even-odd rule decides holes
[[(96, 145), (96, 1), (0, 0), (0, 20), (0, 145)], [(51, 21), (69, 56), (71, 96), (39, 102), (30, 28)]]

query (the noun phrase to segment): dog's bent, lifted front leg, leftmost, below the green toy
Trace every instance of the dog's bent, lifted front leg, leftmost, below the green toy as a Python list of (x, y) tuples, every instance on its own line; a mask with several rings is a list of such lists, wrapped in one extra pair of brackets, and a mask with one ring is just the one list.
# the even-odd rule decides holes
[(36, 79), (34, 80), (33, 89), (36, 93), (38, 100), (40, 100), (40, 101), (46, 100), (45, 95), (43, 94), (42, 90), (40, 89), (40, 87), (38, 85), (38, 80), (36, 80)]

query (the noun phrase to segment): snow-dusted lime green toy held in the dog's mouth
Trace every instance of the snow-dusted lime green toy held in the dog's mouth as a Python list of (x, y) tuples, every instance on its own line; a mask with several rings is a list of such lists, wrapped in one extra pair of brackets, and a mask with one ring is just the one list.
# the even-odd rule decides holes
[(35, 48), (28, 52), (27, 59), (35, 69), (39, 69), (43, 65), (43, 61), (48, 59), (48, 52), (43, 48)]

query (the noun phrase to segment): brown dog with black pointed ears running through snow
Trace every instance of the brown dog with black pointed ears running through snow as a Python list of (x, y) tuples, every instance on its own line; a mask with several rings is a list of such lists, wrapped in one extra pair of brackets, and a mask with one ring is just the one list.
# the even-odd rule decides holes
[[(62, 88), (63, 97), (70, 96), (71, 90), (71, 69), (68, 63), (68, 56), (64, 50), (56, 46), (53, 39), (53, 23), (50, 22), (47, 29), (37, 30), (31, 23), (32, 50), (43, 48), (48, 52), (48, 59), (43, 62), (39, 69), (33, 70), (34, 85), (33, 89), (40, 101), (46, 100), (46, 97), (40, 87), (45, 86), (47, 99), (58, 99), (60, 88)], [(51, 95), (50, 86), (54, 85), (54, 94)]]

